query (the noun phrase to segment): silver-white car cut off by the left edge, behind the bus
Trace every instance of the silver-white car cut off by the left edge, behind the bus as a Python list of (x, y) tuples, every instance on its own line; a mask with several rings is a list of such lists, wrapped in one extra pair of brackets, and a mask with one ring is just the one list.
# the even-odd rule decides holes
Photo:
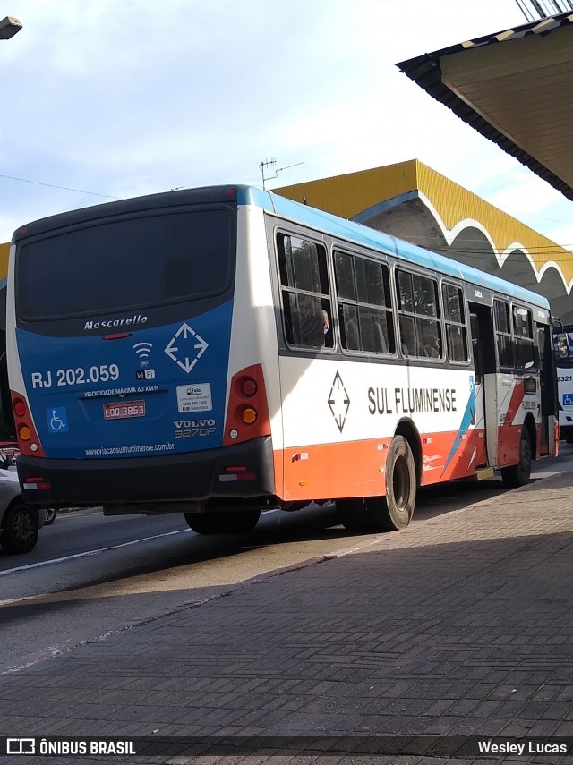
[(0, 547), (12, 554), (30, 552), (45, 521), (46, 510), (22, 501), (13, 457), (0, 455)]

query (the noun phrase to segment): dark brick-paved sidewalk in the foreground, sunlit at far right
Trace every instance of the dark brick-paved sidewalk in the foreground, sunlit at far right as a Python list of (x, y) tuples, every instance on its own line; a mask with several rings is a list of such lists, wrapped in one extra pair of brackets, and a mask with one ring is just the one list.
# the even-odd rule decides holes
[[(539, 480), (0, 676), (0, 734), (573, 737), (572, 488)], [(295, 753), (78, 761), (317, 759)]]

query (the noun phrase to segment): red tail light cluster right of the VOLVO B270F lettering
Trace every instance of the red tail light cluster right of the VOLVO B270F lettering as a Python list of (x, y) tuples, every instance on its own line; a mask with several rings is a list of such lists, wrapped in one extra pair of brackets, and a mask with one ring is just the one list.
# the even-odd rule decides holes
[(270, 435), (269, 405), (261, 364), (246, 367), (231, 380), (223, 445)]

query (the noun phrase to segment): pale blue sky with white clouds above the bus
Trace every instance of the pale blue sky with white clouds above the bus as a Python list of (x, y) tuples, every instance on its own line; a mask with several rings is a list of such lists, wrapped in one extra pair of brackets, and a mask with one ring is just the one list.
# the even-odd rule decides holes
[[(573, 203), (396, 64), (526, 23), (515, 0), (0, 0), (0, 242), (38, 217), (419, 159), (562, 246)], [(284, 169), (283, 169), (284, 168)], [(526, 242), (524, 242), (526, 244)]]

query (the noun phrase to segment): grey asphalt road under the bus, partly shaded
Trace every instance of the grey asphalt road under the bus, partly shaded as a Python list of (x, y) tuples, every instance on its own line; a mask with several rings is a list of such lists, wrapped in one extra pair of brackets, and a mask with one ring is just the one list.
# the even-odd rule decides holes
[[(573, 467), (573, 447), (535, 465), (534, 478)], [(499, 479), (420, 492), (413, 523), (504, 493)], [(59, 514), (27, 556), (0, 556), (0, 673), (107, 633), (232, 591), (286, 566), (383, 544), (348, 534), (333, 506), (261, 516), (251, 534), (201, 537), (180, 514), (105, 518)]]

